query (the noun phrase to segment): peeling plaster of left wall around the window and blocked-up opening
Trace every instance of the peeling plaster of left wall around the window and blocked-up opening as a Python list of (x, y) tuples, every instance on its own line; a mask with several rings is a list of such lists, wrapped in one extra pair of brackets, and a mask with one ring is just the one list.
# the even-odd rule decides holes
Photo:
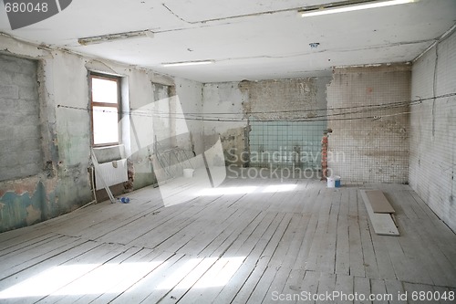
[[(158, 97), (154, 96), (152, 83), (165, 86), (177, 83), (181, 100), (192, 105), (189, 109), (202, 108), (202, 85), (196, 82), (172, 79), (107, 60), (84, 58), (64, 50), (38, 47), (5, 36), (0, 36), (0, 52), (37, 62), (39, 122), (36, 129), (42, 138), (42, 162), (38, 172), (0, 182), (0, 232), (65, 214), (92, 201), (88, 174), (88, 69), (122, 76), (128, 83), (122, 98), (130, 100), (131, 109), (138, 109)], [(21, 128), (20, 125), (16, 127)], [(192, 130), (201, 133), (202, 122), (192, 123)], [(130, 131), (124, 131), (123, 136), (128, 139)], [(132, 159), (133, 166), (150, 168), (133, 182), (133, 187), (154, 183), (148, 155), (139, 153)]]

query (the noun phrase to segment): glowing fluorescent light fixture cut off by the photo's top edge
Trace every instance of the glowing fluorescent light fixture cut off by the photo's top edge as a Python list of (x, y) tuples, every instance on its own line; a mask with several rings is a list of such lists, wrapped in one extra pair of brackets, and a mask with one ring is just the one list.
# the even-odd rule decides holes
[(299, 14), (303, 17), (306, 16), (320, 16), (327, 14), (345, 13), (351, 11), (358, 11), (368, 8), (377, 8), (390, 5), (404, 5), (418, 0), (389, 0), (389, 1), (360, 1), (357, 4), (353, 2), (343, 1), (340, 3), (329, 4), (329, 5), (317, 5), (306, 8), (299, 11)]

